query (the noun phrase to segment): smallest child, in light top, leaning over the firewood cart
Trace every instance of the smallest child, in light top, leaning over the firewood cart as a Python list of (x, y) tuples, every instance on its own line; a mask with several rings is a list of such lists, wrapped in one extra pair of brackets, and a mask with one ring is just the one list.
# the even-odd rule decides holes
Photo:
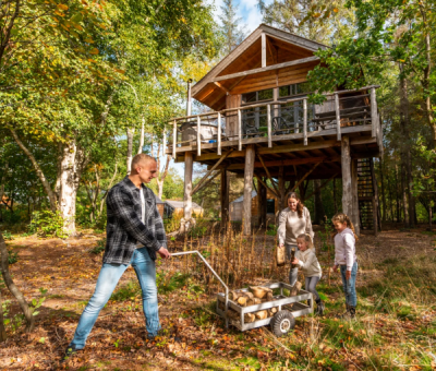
[(290, 284), (293, 286), (296, 282), (296, 275), (299, 273), (299, 267), (303, 271), (304, 277), (306, 278), (306, 290), (312, 292), (316, 302), (316, 313), (319, 315), (324, 314), (324, 303), (316, 291), (316, 284), (319, 282), (323, 271), (318, 260), (316, 259), (315, 249), (312, 243), (312, 238), (310, 235), (299, 235), (296, 237), (296, 246), (299, 251), (295, 253), (294, 260), (291, 262), (295, 264), (296, 267), (291, 270)]

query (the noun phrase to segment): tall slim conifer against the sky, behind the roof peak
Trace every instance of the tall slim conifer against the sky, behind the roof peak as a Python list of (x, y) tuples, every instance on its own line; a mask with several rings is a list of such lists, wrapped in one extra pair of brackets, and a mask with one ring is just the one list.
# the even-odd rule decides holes
[(222, 11), (222, 15), (219, 16), (222, 23), (220, 31), (225, 45), (222, 53), (227, 56), (244, 40), (246, 33), (245, 25), (241, 25), (242, 19), (237, 16), (238, 5), (234, 0), (223, 0), (220, 8)]

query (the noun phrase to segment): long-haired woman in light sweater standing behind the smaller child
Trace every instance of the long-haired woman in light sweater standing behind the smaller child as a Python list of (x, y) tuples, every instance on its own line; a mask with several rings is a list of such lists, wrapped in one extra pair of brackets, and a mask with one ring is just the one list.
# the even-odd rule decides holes
[[(280, 247), (286, 247), (287, 258), (291, 259), (292, 249), (299, 250), (296, 246), (296, 237), (307, 234), (312, 241), (314, 232), (312, 230), (311, 213), (304, 207), (296, 193), (288, 194), (288, 207), (284, 208), (279, 216), (279, 228), (277, 230)], [(292, 265), (289, 272), (289, 280), (291, 282)]]

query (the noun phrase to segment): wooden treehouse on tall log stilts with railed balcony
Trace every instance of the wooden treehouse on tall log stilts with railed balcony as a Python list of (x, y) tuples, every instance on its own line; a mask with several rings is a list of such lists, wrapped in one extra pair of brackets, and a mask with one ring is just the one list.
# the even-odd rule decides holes
[[(307, 72), (326, 46), (262, 24), (191, 89), (186, 116), (172, 119), (167, 154), (185, 164), (184, 217), (192, 220), (192, 196), (218, 175), (221, 224), (229, 217), (228, 172), (244, 178), (243, 232), (252, 234), (252, 189), (257, 179), (259, 219), (266, 223), (266, 191), (286, 207), (286, 194), (304, 180), (324, 185), (342, 178), (342, 211), (359, 232), (379, 228), (373, 158), (383, 151), (376, 88), (326, 95), (307, 101)], [(190, 84), (189, 84), (190, 85)], [(191, 97), (213, 111), (191, 115)], [(193, 163), (208, 171), (193, 189)], [(269, 180), (269, 181), (268, 181)], [(323, 185), (322, 185), (323, 187)]]

